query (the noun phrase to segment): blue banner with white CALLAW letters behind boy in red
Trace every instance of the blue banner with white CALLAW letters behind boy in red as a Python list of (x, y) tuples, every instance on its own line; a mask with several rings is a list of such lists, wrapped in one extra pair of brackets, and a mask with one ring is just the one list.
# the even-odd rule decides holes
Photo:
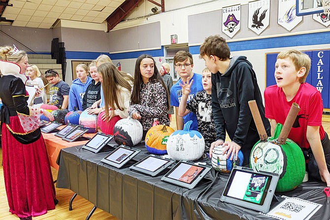
[[(309, 50), (303, 52), (307, 54), (312, 61), (306, 83), (316, 87), (321, 93), (323, 108), (330, 108), (330, 50)], [(277, 55), (278, 53), (266, 54), (266, 87), (276, 85), (274, 72)]]

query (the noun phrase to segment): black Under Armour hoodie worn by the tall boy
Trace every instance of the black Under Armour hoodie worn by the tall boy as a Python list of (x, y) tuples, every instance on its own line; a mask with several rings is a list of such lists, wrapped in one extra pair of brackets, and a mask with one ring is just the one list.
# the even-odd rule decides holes
[(264, 104), (256, 73), (246, 57), (231, 58), (224, 74), (212, 74), (212, 109), (216, 140), (225, 140), (226, 131), (231, 141), (241, 146), (244, 164), (249, 161), (251, 149), (260, 139), (248, 101), (256, 100), (268, 135), (270, 124), (264, 116)]

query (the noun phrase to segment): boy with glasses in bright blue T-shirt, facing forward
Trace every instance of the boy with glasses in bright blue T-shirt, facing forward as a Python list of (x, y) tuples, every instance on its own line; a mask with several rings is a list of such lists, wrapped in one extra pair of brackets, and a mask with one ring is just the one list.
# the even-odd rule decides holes
[[(193, 99), (197, 92), (203, 91), (201, 84), (201, 75), (193, 73), (193, 56), (188, 51), (178, 51), (173, 58), (174, 67), (180, 76), (180, 79), (172, 86), (170, 91), (170, 104), (175, 106), (175, 119), (176, 127), (178, 130), (183, 129), (183, 125), (188, 121), (193, 121), (190, 126), (192, 130), (198, 130), (197, 117), (194, 113), (190, 112), (187, 115), (179, 116), (179, 104), (182, 97), (182, 90), (180, 84), (187, 83), (189, 77), (189, 83), (194, 80), (193, 85), (190, 88), (190, 94), (188, 95), (187, 102)], [(188, 83), (188, 84), (189, 84)]]

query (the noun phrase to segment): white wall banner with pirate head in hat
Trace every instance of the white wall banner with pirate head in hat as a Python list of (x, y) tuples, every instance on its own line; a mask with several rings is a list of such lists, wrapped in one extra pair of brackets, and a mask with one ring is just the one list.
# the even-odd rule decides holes
[(232, 38), (241, 28), (241, 5), (222, 8), (222, 32)]

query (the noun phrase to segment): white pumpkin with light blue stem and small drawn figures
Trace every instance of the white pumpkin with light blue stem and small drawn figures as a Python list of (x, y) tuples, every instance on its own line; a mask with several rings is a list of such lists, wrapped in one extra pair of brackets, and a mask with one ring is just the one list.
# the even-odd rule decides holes
[(197, 160), (205, 149), (203, 136), (196, 130), (190, 130), (193, 121), (189, 121), (183, 130), (176, 130), (169, 135), (166, 149), (169, 157), (176, 160)]

